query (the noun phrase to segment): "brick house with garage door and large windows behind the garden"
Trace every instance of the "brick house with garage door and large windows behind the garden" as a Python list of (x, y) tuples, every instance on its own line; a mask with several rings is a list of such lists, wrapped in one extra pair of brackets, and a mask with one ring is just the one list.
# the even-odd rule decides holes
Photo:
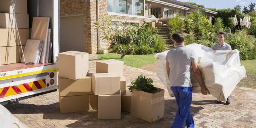
[(196, 9), (205, 12), (209, 20), (217, 13), (177, 0), (60, 0), (60, 51), (107, 53), (110, 42), (102, 40), (94, 26), (102, 16), (136, 24), (145, 20), (159, 27), (176, 13), (186, 17)]

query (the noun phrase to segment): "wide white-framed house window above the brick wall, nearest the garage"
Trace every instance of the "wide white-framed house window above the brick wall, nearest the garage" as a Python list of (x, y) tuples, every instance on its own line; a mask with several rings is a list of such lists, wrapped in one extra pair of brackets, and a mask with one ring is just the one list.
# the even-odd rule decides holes
[(144, 16), (144, 0), (107, 0), (108, 12)]

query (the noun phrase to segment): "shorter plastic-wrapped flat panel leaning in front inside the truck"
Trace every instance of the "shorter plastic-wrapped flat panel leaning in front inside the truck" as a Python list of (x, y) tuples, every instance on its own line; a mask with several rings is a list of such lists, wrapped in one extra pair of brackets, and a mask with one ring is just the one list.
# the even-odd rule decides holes
[[(35, 39), (28, 39), (24, 48), (24, 56), (21, 57), (21, 63), (33, 62), (37, 64), (40, 59), (42, 51), (42, 41)], [(24, 62), (24, 59), (25, 61)]]

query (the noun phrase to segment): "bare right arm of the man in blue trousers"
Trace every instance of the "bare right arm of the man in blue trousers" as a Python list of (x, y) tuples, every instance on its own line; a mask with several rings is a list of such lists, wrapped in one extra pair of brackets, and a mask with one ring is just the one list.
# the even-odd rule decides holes
[(191, 62), (191, 66), (192, 66), (192, 70), (195, 74), (195, 78), (197, 79), (200, 87), (201, 87), (201, 93), (203, 95), (207, 95), (207, 93), (209, 92), (209, 90), (205, 87), (203, 78), (202, 78), (202, 74), (197, 66), (197, 64), (195, 62)]

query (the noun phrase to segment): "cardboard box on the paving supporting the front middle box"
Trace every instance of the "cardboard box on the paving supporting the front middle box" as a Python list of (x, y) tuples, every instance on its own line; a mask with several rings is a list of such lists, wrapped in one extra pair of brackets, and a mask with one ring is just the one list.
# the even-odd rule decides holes
[(121, 94), (99, 95), (98, 119), (121, 119)]

